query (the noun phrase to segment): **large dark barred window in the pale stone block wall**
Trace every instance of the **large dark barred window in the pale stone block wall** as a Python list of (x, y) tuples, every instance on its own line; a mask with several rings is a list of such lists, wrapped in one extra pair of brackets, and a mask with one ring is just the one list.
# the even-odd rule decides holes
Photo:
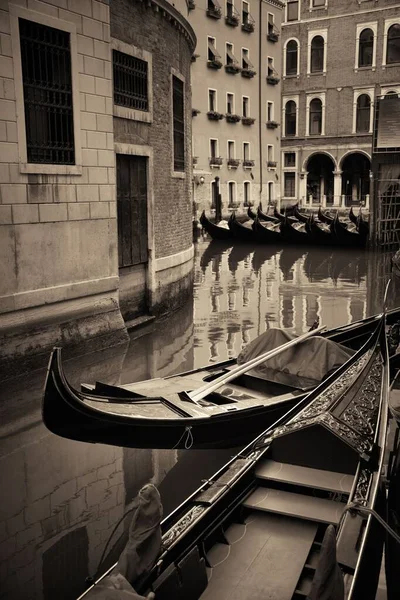
[(29, 163), (75, 164), (70, 34), (19, 19)]

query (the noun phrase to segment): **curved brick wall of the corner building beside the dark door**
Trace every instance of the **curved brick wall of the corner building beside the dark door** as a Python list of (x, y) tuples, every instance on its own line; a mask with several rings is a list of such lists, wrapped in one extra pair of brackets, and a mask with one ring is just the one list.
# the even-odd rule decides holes
[[(171, 8), (173, 10), (173, 8)], [(191, 87), (193, 44), (168, 14), (145, 3), (115, 0), (111, 4), (111, 36), (150, 52), (153, 69), (153, 122), (115, 118), (116, 143), (153, 149), (154, 210), (151, 215), (155, 257), (178, 253), (192, 243), (191, 227)], [(185, 176), (171, 176), (172, 106), (171, 68), (185, 78)]]

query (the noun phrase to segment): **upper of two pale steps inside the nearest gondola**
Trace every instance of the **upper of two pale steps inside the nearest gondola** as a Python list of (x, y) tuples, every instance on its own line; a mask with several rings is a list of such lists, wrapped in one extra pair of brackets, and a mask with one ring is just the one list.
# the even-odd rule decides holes
[(292, 483), (318, 490), (350, 494), (353, 477), (344, 473), (311, 469), (274, 460), (263, 461), (256, 469), (259, 479)]

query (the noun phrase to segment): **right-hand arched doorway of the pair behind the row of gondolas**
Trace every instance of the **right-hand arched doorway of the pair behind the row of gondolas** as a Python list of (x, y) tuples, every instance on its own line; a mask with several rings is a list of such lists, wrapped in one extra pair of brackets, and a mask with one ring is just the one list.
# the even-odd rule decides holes
[(342, 196), (345, 206), (368, 204), (371, 161), (361, 152), (353, 152), (342, 161)]

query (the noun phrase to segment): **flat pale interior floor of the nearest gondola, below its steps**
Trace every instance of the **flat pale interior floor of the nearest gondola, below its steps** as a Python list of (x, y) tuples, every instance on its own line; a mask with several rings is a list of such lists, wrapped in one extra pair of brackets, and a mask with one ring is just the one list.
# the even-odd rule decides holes
[(229, 544), (215, 544), (202, 600), (291, 600), (318, 526), (310, 521), (253, 511), (232, 524)]

